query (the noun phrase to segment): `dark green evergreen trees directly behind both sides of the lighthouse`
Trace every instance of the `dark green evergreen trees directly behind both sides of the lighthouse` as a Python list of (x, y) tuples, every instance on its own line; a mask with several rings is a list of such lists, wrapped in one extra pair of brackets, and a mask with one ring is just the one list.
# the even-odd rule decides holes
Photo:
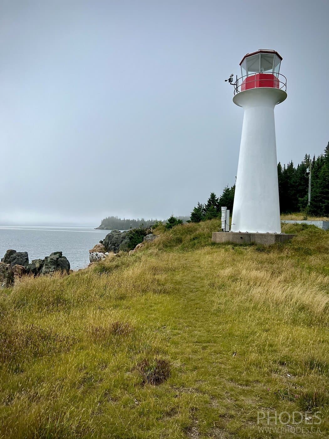
[[(308, 207), (308, 173), (310, 156), (295, 168), (293, 162), (288, 165), (278, 163), (280, 213), (304, 212), (305, 215), (329, 216), (329, 142), (323, 154), (315, 156), (311, 162), (311, 203)], [(199, 223), (207, 219), (218, 218), (222, 206), (230, 212), (233, 209), (235, 185), (226, 186), (218, 197), (211, 192), (205, 204), (200, 202), (191, 212), (190, 221)]]

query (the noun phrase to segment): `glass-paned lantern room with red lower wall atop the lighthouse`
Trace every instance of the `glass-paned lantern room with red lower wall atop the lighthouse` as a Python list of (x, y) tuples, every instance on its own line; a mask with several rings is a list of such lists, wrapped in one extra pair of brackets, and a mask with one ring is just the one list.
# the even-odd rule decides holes
[(282, 57), (275, 50), (259, 49), (240, 62), (241, 91), (257, 87), (280, 88), (279, 71)]

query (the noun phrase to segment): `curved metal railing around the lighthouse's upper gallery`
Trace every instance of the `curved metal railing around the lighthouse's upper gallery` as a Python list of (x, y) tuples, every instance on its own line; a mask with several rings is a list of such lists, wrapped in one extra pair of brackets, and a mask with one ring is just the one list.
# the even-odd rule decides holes
[[(256, 77), (256, 75), (258, 74), (261, 74), (262, 77)], [(271, 75), (271, 78), (264, 78), (263, 75)], [(247, 78), (249, 78), (249, 80), (245, 81)], [(259, 83), (261, 83), (261, 85)], [(236, 76), (236, 82), (232, 83), (232, 85), (234, 86), (234, 96), (244, 90), (267, 86), (270, 88), (277, 88), (279, 90), (286, 91), (287, 79), (286, 76), (282, 75), (281, 73), (255, 72), (252, 75), (241, 76), (241, 78), (238, 78), (238, 76)], [(244, 86), (245, 88), (241, 90), (241, 86)]]

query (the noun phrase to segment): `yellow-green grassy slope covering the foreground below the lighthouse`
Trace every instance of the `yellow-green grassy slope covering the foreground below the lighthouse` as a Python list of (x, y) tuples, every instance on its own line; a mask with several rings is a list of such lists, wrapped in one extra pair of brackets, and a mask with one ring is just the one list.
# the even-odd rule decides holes
[[(214, 245), (219, 227), (1, 290), (0, 437), (327, 437), (328, 232)], [(260, 431), (267, 410), (321, 433)]]

